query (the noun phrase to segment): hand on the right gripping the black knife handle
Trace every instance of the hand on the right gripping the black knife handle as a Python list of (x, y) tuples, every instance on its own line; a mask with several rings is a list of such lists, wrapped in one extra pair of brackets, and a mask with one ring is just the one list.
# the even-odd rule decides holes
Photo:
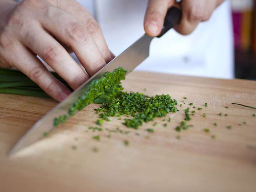
[(201, 21), (207, 21), (214, 9), (224, 0), (149, 0), (144, 19), (145, 32), (152, 37), (158, 36), (164, 25), (164, 19), (171, 6), (178, 6), (182, 10), (182, 19), (174, 29), (188, 35), (194, 31)]

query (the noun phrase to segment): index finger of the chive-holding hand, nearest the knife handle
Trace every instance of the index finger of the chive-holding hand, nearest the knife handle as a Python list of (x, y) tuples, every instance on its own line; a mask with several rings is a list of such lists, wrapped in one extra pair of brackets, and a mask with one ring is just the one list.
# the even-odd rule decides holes
[(85, 7), (83, 7), (76, 0), (68, 2), (61, 1), (58, 7), (63, 11), (66, 11), (68, 14), (74, 16), (78, 21), (80, 21), (83, 25), (87, 27), (87, 30), (94, 39), (96, 45), (99, 48), (99, 51), (101, 51), (101, 54), (105, 59), (106, 63), (111, 61), (111, 53), (101, 31), (101, 28), (99, 27), (96, 20), (92, 17), (92, 15), (85, 9)]

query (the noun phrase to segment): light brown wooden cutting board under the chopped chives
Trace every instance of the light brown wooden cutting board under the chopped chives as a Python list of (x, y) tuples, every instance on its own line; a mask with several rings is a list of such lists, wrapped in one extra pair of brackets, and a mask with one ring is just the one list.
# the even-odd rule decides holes
[[(170, 94), (179, 104), (183, 97), (188, 99), (179, 112), (139, 130), (126, 128), (117, 118), (104, 122), (103, 131), (88, 130), (97, 120), (94, 109), (99, 105), (92, 104), (50, 136), (7, 157), (20, 137), (57, 103), (0, 94), (0, 191), (256, 191), (256, 110), (231, 104), (256, 106), (256, 82), (132, 72), (123, 86), (147, 95)], [(195, 110), (192, 128), (178, 133), (174, 129), (189, 103), (203, 110)], [(171, 122), (163, 121), (169, 117)], [(109, 130), (117, 128), (123, 133), (108, 138)], [(147, 128), (154, 128), (154, 133), (147, 133)], [(100, 135), (100, 141), (93, 140), (94, 135)]]

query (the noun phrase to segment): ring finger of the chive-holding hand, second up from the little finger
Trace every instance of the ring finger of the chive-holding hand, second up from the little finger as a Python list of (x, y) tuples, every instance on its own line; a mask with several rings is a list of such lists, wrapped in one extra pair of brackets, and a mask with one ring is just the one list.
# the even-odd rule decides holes
[(68, 52), (42, 28), (33, 27), (22, 36), (21, 42), (39, 55), (73, 89), (89, 77)]

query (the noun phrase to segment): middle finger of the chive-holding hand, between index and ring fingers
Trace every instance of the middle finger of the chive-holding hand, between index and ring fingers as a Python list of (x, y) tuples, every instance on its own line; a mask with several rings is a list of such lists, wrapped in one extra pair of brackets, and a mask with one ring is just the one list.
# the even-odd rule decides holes
[(58, 8), (52, 8), (51, 14), (50, 17), (41, 21), (42, 25), (72, 48), (89, 76), (106, 65), (105, 59), (85, 25)]

